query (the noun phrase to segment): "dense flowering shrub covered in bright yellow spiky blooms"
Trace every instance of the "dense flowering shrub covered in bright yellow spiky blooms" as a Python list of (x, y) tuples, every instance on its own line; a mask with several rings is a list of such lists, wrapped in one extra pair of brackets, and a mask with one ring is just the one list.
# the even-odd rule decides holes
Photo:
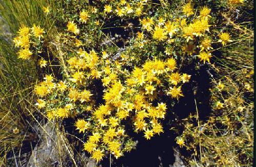
[[(84, 150), (96, 161), (134, 148), (127, 129), (146, 139), (163, 133), (161, 122), (191, 77), (182, 69), (189, 62), (209, 64), (213, 42), (221, 47), (232, 42), (228, 32), (215, 28), (218, 18), (207, 6), (147, 0), (65, 5), (61, 12), (43, 8), (58, 20), (58, 34), (24, 26), (14, 43), (19, 58), (36, 59), (41, 68), (59, 67), (35, 85), (36, 105), (49, 121), (73, 118), (86, 136)], [(126, 31), (123, 48), (110, 39), (109, 25)], [(166, 104), (166, 97), (174, 103)]]

